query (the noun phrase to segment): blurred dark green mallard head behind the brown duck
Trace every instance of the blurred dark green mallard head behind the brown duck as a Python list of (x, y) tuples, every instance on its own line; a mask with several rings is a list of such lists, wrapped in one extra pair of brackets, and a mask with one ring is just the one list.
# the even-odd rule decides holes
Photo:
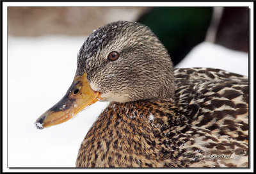
[(177, 65), (205, 40), (211, 18), (212, 7), (155, 7), (138, 22), (152, 29)]

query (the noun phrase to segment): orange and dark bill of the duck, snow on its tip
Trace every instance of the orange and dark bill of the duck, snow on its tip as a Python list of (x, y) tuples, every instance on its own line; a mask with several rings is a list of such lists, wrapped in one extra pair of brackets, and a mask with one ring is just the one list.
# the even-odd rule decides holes
[(42, 114), (35, 122), (37, 129), (67, 122), (86, 106), (100, 100), (100, 93), (93, 91), (87, 81), (87, 74), (75, 76), (65, 96)]

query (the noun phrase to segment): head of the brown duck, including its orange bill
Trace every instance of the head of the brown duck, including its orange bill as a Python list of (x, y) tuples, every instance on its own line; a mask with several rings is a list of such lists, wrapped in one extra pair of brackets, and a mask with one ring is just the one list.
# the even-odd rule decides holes
[(43, 129), (66, 122), (98, 100), (158, 100), (174, 91), (173, 64), (157, 36), (136, 22), (112, 22), (88, 36), (77, 54), (72, 85), (35, 125)]

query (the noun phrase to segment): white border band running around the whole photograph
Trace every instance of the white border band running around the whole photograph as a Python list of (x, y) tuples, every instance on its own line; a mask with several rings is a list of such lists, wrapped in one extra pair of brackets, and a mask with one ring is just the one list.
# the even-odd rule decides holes
[[(76, 168), (7, 168), (7, 8), (8, 6), (248, 6), (250, 8), (250, 169), (76, 169)], [(3, 172), (252, 172), (253, 171), (253, 2), (3, 2)]]

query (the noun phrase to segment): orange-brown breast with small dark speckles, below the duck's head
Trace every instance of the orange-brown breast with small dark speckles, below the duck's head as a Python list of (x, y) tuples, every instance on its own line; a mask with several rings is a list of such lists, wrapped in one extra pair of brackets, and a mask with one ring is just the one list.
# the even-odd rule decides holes
[(77, 166), (175, 166), (173, 128), (183, 120), (174, 107), (175, 100), (112, 102), (84, 138)]

